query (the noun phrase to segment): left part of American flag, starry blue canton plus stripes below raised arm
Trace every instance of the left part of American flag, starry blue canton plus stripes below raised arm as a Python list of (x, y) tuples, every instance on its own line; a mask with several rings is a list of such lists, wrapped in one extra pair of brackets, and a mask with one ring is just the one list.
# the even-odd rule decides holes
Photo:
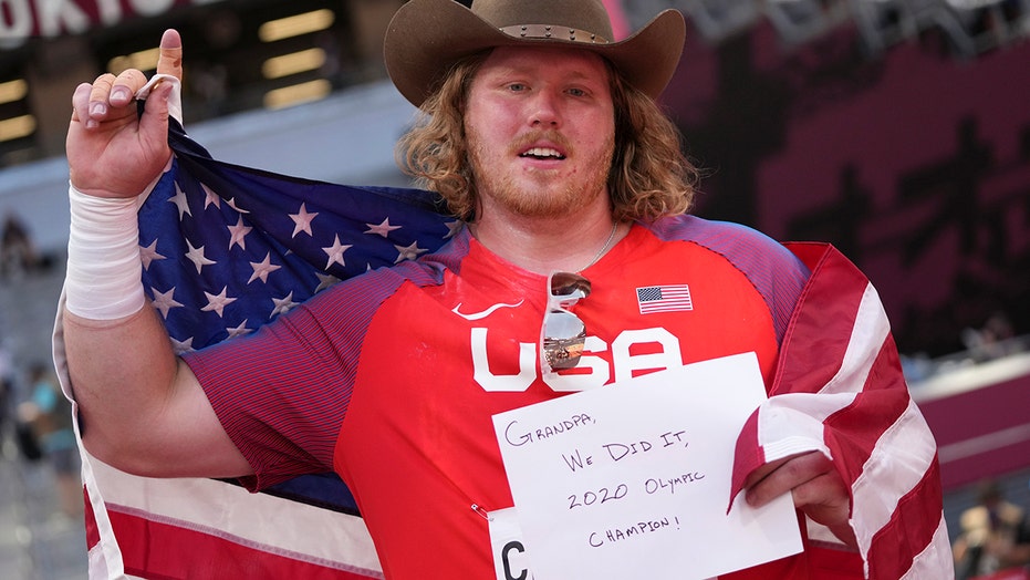
[[(221, 163), (175, 122), (169, 143), (173, 166), (139, 209), (139, 246), (144, 288), (180, 353), (433, 251), (461, 227), (428, 193)], [(135, 477), (82, 453), (91, 578), (382, 578), (335, 474), (254, 495), (228, 481)]]

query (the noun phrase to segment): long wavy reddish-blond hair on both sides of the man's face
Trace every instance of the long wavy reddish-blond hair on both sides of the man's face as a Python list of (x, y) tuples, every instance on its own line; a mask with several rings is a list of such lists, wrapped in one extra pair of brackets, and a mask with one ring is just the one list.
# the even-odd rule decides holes
[[(422, 187), (437, 191), (458, 218), (471, 221), (477, 191), (464, 114), (472, 77), (488, 53), (459, 61), (419, 108), (397, 143), (397, 164)], [(626, 83), (608, 64), (615, 105), (615, 155), (607, 188), (616, 220), (654, 221), (687, 213), (697, 168), (683, 154), (676, 125), (657, 103)]]

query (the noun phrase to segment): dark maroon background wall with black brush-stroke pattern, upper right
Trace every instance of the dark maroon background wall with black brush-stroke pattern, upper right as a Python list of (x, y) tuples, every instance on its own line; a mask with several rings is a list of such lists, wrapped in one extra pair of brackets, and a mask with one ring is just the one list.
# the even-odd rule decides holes
[(664, 101), (712, 170), (697, 213), (836, 244), (903, 352), (959, 350), (996, 310), (1030, 332), (1030, 41), (961, 61), (932, 38), (874, 59), (855, 40), (690, 38)]

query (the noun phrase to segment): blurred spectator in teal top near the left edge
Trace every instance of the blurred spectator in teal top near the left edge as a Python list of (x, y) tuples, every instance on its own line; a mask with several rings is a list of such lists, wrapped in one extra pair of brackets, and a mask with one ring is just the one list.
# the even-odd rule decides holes
[(43, 457), (53, 465), (61, 510), (72, 518), (82, 517), (82, 479), (72, 405), (58, 386), (53, 371), (43, 363), (30, 367), (29, 386), (29, 398), (18, 406), (19, 418), (32, 426)]

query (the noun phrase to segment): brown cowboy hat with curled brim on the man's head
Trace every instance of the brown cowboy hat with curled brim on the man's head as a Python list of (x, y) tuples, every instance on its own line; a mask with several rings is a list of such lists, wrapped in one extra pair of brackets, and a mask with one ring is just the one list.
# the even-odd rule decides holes
[(657, 97), (676, 71), (686, 25), (665, 10), (614, 42), (601, 0), (410, 0), (386, 30), (386, 70), (397, 90), (422, 105), (458, 60), (496, 46), (568, 45), (611, 61), (634, 86)]

